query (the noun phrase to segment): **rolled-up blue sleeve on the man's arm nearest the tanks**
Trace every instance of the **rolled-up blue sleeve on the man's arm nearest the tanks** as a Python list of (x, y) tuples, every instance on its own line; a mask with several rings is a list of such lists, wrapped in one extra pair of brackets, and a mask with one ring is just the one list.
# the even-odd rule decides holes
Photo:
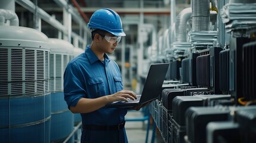
[(75, 107), (78, 101), (85, 97), (85, 84), (81, 80), (83, 75), (75, 63), (69, 63), (64, 71), (64, 100), (68, 107)]

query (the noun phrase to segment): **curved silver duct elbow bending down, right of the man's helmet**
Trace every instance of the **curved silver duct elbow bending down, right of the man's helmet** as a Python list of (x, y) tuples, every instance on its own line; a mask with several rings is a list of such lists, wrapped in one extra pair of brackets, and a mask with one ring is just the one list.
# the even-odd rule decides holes
[(182, 10), (176, 18), (175, 23), (175, 42), (187, 42), (187, 33), (186, 33), (186, 27), (187, 27), (187, 20), (191, 17), (192, 9), (191, 8), (185, 8)]

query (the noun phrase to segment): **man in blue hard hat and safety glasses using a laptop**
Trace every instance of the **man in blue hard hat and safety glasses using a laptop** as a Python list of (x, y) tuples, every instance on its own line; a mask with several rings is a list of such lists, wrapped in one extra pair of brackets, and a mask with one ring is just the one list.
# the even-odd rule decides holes
[(120, 69), (107, 55), (125, 36), (121, 18), (113, 10), (101, 9), (92, 14), (87, 26), (92, 30), (92, 43), (67, 65), (64, 99), (72, 113), (81, 113), (81, 142), (128, 142), (127, 108), (104, 107), (113, 101), (137, 99), (134, 92), (124, 90)]

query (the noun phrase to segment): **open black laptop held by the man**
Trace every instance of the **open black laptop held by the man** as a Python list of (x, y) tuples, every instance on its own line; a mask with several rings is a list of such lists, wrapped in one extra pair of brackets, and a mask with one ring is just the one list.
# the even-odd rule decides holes
[(162, 92), (162, 84), (168, 70), (169, 63), (151, 64), (149, 73), (144, 84), (141, 95), (137, 95), (137, 100), (115, 101), (107, 104), (106, 107), (134, 107), (146, 102), (156, 100)]

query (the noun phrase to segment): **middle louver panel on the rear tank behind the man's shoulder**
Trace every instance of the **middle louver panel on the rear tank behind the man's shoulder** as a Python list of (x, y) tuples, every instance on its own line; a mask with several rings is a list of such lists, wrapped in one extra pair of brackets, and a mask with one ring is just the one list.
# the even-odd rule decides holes
[(61, 55), (60, 54), (56, 54), (55, 55), (55, 67), (56, 67), (56, 76), (55, 76), (55, 90), (58, 91), (58, 90), (61, 90), (61, 76), (62, 76), (62, 70), (61, 70)]

